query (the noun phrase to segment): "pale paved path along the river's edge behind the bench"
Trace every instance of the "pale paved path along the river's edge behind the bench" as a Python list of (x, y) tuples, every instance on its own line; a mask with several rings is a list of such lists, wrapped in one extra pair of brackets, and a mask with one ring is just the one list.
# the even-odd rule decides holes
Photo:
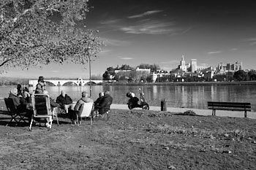
[[(111, 109), (128, 109), (127, 104), (111, 104)], [(135, 108), (140, 109), (140, 108)], [(154, 111), (160, 111), (161, 107), (149, 107), (149, 109)], [(194, 111), (197, 115), (211, 115), (211, 109), (191, 109), (191, 108), (177, 108), (177, 107), (167, 107), (167, 112), (186, 112), (187, 110)], [(244, 112), (238, 111), (225, 111), (217, 110), (217, 116), (225, 117), (244, 117)], [(247, 118), (256, 119), (256, 112), (247, 112)]]

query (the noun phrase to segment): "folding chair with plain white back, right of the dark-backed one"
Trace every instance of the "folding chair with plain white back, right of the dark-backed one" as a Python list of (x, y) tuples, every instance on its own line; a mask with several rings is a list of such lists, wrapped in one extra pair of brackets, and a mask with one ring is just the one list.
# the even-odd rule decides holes
[[(94, 103), (84, 103), (81, 105), (79, 112), (77, 112), (77, 124), (79, 126), (79, 120), (78, 118), (82, 119), (83, 117), (90, 117), (92, 113), (94, 112)], [(92, 125), (92, 119), (91, 119), (91, 125)]]

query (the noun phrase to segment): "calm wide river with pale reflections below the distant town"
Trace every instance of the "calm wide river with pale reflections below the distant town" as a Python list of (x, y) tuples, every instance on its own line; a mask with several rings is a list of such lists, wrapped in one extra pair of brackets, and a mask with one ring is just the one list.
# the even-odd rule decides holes
[[(10, 89), (15, 86), (0, 86), (0, 97), (8, 96)], [(89, 93), (89, 86), (47, 86), (50, 96), (55, 99), (65, 90), (77, 101), (81, 92)], [(142, 88), (150, 106), (160, 106), (161, 100), (167, 100), (167, 107), (185, 107), (207, 109), (207, 101), (250, 102), (252, 110), (256, 111), (256, 85), (243, 84), (208, 84), (208, 85), (93, 85), (91, 96), (96, 100), (98, 93), (110, 90), (114, 104), (127, 104), (126, 93), (132, 91), (139, 96), (138, 88)], [(30, 92), (34, 88), (29, 88)]]

